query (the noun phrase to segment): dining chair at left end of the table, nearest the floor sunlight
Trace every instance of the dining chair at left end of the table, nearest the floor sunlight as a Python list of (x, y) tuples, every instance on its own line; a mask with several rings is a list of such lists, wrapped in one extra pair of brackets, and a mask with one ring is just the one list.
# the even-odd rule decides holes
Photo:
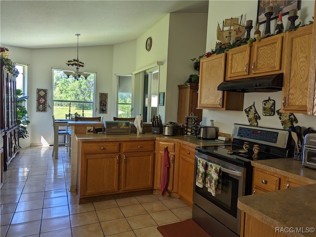
[[(53, 128), (54, 128), (54, 148), (52, 152), (52, 156), (58, 157), (58, 147), (59, 146), (65, 146), (67, 149), (67, 152), (70, 148), (70, 136), (71, 136), (71, 130), (68, 130), (68, 124), (67, 121), (63, 120), (56, 120), (55, 116), (52, 115), (53, 120)], [(65, 127), (65, 129), (59, 129), (59, 127)], [(61, 142), (59, 141), (59, 137), (63, 137), (61, 139)], [(57, 153), (57, 154), (56, 154)]]

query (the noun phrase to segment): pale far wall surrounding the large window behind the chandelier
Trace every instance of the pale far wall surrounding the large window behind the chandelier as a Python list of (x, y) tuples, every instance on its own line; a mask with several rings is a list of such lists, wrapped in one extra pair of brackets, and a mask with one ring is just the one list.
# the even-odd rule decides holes
[[(31, 121), (28, 126), (30, 137), (28, 145), (48, 145), (53, 143), (52, 114), (47, 112), (36, 112), (36, 89), (47, 89), (47, 102), (52, 105), (52, 68), (76, 70), (68, 67), (65, 62), (76, 58), (77, 48), (47, 48), (47, 49), (24, 49), (6, 46), (11, 52), (9, 58), (19, 64), (28, 64), (28, 116)], [(112, 93), (112, 68), (113, 68), (113, 46), (91, 46), (79, 47), (79, 60), (85, 63), (84, 71), (96, 72), (96, 104), (98, 107), (99, 93), (109, 93), (108, 114), (101, 114), (104, 119), (113, 119), (115, 103)], [(99, 116), (98, 111), (95, 114)], [(20, 139), (21, 143), (25, 142)]]

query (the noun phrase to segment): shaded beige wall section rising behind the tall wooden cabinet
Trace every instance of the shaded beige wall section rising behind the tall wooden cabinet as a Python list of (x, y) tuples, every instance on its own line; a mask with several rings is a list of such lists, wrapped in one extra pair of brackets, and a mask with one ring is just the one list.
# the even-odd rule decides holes
[(191, 59), (204, 52), (206, 29), (206, 13), (170, 14), (165, 122), (177, 122), (178, 85), (184, 84), (190, 74), (198, 74)]

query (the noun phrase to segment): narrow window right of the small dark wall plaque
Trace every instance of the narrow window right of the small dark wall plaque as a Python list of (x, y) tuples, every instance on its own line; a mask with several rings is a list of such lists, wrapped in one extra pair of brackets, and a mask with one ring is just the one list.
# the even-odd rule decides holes
[(132, 77), (118, 77), (118, 118), (132, 117)]

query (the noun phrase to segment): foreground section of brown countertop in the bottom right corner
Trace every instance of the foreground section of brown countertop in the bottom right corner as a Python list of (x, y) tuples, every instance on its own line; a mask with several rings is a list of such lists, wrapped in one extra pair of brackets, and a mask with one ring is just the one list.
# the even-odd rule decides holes
[[(238, 198), (238, 208), (272, 228), (316, 228), (316, 184)], [(315, 230), (315, 229), (314, 229)], [(312, 237), (316, 233), (286, 233)]]

